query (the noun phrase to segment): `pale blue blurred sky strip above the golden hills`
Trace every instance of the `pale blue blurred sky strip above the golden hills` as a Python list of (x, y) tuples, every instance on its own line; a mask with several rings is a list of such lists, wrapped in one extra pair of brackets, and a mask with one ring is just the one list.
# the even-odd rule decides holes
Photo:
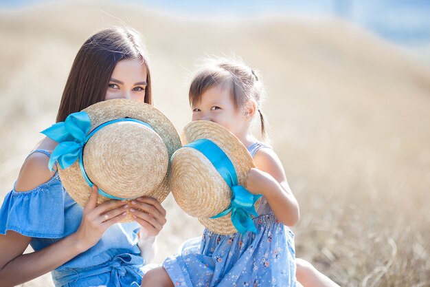
[[(0, 8), (20, 8), (52, 0), (0, 0)], [(297, 17), (342, 17), (402, 45), (430, 43), (429, 0), (111, 0), (181, 15), (256, 17), (288, 14)], [(81, 1), (81, 3), (85, 3)]]

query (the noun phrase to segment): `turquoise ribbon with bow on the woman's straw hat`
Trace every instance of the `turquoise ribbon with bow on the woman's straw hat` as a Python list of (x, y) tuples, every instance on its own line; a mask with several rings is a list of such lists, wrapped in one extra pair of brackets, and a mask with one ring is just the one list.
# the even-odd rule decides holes
[[(51, 127), (41, 131), (41, 134), (44, 134), (48, 138), (55, 140), (58, 142), (58, 145), (55, 147), (54, 151), (52, 151), (51, 158), (49, 158), (48, 168), (49, 170), (54, 170), (54, 164), (58, 162), (60, 164), (61, 169), (67, 169), (71, 164), (79, 160), (80, 171), (82, 172), (82, 176), (89, 185), (89, 187), (93, 187), (93, 182), (89, 180), (87, 173), (84, 169), (84, 163), (82, 160), (82, 153), (84, 151), (84, 145), (88, 142), (88, 140), (93, 136), (98, 130), (106, 127), (106, 125), (111, 125), (113, 123), (118, 122), (135, 122), (146, 127), (152, 129), (150, 125), (142, 122), (141, 120), (136, 120), (134, 118), (117, 118), (115, 120), (109, 120), (102, 125), (99, 125), (90, 134), (88, 134), (89, 129), (91, 127), (91, 120), (89, 115), (85, 111), (78, 111), (77, 113), (69, 114), (64, 122), (59, 122)], [(152, 129), (154, 130), (154, 129)], [(88, 135), (87, 135), (88, 134)], [(110, 195), (102, 191), (102, 189), (98, 189), (98, 193), (100, 195), (105, 196), (106, 198), (111, 198), (115, 200), (127, 200), (131, 198), (117, 198), (116, 196)]]

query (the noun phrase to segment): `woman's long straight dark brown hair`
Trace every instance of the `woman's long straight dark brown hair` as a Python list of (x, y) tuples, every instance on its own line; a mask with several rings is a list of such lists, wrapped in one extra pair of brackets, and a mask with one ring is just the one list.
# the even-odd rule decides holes
[(94, 34), (80, 47), (67, 78), (56, 122), (63, 122), (69, 114), (104, 100), (113, 69), (124, 59), (139, 59), (146, 65), (145, 103), (152, 105), (148, 56), (141, 37), (131, 28), (113, 28)]

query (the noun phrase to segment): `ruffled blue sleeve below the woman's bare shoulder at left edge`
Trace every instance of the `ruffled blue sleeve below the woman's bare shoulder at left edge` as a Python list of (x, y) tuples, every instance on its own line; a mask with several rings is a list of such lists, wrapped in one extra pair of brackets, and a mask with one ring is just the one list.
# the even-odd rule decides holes
[(12, 189), (1, 205), (0, 234), (11, 230), (28, 237), (64, 237), (64, 201), (58, 173), (31, 191)]

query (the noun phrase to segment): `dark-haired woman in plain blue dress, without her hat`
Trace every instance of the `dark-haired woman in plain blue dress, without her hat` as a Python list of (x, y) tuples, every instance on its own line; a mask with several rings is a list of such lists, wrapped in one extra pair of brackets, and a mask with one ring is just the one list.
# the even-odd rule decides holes
[[(146, 52), (129, 28), (98, 32), (82, 45), (56, 121), (111, 98), (152, 103)], [(23, 284), (49, 271), (56, 286), (139, 286), (166, 211), (152, 198), (139, 198), (131, 206), (121, 200), (96, 206), (97, 187), (82, 209), (63, 189), (58, 173), (48, 169), (56, 145), (49, 138), (38, 142), (1, 206), (0, 286)], [(136, 222), (115, 224), (125, 211)], [(34, 252), (24, 255), (29, 244)]]

